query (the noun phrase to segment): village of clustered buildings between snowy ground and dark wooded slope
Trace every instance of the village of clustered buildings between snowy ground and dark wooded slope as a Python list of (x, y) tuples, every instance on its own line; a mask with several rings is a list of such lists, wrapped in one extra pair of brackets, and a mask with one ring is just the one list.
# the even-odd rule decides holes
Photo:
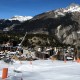
[(52, 60), (72, 60), (80, 58), (80, 52), (74, 47), (13, 47), (12, 43), (7, 42), (0, 46), (0, 60), (6, 63), (12, 60), (32, 61), (39, 59)]

